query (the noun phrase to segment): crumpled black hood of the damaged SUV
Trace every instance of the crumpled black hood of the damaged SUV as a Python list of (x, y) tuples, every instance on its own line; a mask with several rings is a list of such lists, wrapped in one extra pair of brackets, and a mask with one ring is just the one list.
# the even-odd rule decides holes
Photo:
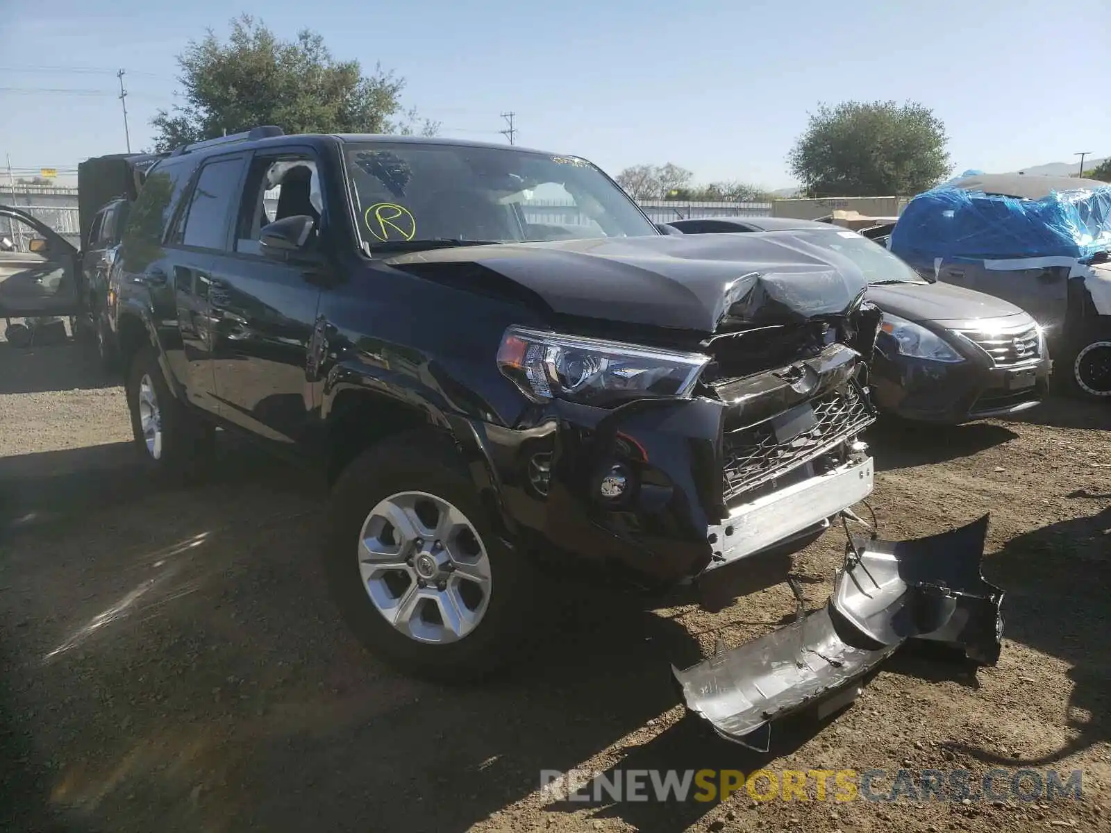
[(561, 315), (707, 334), (844, 313), (868, 287), (817, 247), (760, 233), (461, 247), (386, 262), (453, 283), (494, 273)]

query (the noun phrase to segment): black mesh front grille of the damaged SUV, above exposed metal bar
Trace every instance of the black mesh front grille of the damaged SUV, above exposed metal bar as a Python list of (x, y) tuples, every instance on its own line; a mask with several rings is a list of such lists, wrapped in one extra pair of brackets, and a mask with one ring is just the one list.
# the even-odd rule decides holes
[(851, 382), (811, 400), (810, 404), (814, 409), (814, 426), (785, 442), (775, 439), (770, 420), (725, 433), (727, 502), (824, 454), (875, 419), (874, 411)]

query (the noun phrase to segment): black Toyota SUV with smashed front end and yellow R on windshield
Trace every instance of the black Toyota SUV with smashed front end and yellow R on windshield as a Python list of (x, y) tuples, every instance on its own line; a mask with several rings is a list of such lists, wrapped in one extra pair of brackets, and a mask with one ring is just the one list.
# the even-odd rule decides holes
[(511, 656), (537, 560), (673, 586), (800, 549), (872, 489), (863, 275), (664, 233), (577, 157), (273, 128), (180, 148), (109, 283), (147, 464), (191, 468), (219, 425), (323, 466), (339, 605), (418, 672)]

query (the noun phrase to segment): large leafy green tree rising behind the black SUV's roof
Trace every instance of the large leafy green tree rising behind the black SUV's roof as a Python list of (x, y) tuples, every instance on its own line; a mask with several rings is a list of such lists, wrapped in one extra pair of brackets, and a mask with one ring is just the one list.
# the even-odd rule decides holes
[(412, 133), (434, 136), (439, 124), (417, 127), (401, 106), (404, 81), (376, 66), (337, 61), (323, 38), (302, 30), (280, 40), (261, 20), (231, 21), (227, 42), (212, 30), (178, 56), (183, 103), (151, 120), (156, 150), (224, 133), (277, 124), (287, 133)]

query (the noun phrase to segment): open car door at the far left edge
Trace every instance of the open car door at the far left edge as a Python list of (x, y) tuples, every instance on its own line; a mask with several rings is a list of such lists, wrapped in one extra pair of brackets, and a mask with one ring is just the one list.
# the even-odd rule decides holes
[(0, 318), (76, 315), (81, 311), (77, 249), (40, 220), (0, 205)]

